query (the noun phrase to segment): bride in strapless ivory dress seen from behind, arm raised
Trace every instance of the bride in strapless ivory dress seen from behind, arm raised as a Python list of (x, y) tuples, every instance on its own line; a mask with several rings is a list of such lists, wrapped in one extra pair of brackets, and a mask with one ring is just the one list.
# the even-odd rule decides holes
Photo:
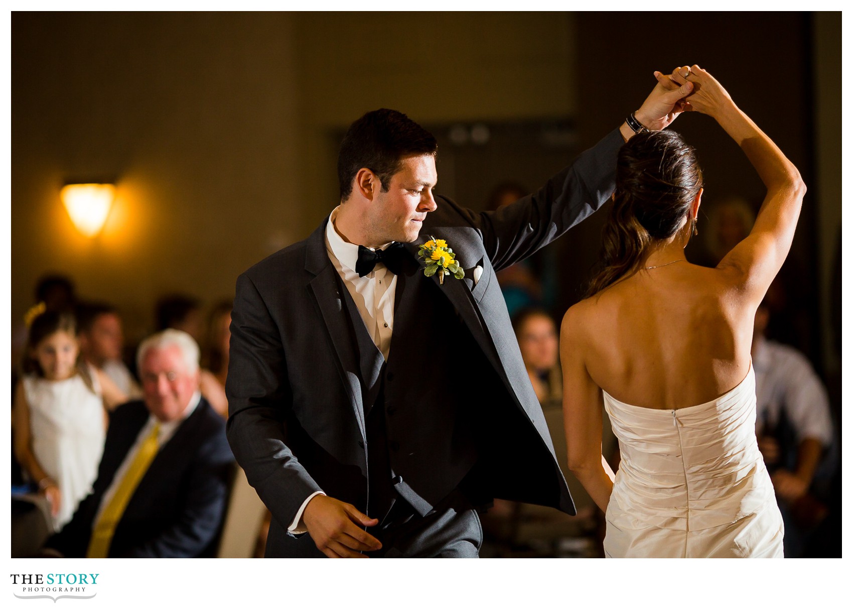
[[(755, 311), (791, 246), (797, 168), (699, 66), (688, 110), (711, 116), (767, 187), (755, 227), (717, 268), (689, 264), (702, 172), (672, 131), (619, 152), (603, 269), (563, 319), (569, 467), (606, 512), (608, 557), (781, 557), (783, 527), (755, 437)], [(601, 456), (601, 405), (622, 459)]]

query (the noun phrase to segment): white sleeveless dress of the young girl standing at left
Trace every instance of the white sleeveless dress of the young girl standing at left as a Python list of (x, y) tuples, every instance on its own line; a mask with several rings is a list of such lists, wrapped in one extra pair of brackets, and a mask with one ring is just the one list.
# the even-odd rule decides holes
[(60, 531), (89, 495), (104, 450), (104, 407), (92, 374), (92, 392), (79, 374), (66, 380), (24, 378), (30, 409), (32, 453), (61, 493), (59, 513), (52, 518)]

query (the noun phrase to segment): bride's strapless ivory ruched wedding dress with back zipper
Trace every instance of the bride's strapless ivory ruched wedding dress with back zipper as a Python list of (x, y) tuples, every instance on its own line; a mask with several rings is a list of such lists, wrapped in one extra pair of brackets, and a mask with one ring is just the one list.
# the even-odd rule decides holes
[(607, 558), (782, 558), (784, 526), (755, 437), (755, 374), (711, 402), (604, 406), (622, 458)]

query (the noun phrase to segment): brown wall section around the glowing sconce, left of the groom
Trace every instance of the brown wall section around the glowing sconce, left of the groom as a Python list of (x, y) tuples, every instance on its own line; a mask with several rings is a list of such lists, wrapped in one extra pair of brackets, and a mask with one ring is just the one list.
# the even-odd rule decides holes
[[(216, 299), (295, 239), (292, 18), (16, 14), (13, 20), (12, 318), (47, 270), (113, 301), (131, 334), (154, 297)], [(73, 228), (63, 180), (112, 175), (94, 240)]]

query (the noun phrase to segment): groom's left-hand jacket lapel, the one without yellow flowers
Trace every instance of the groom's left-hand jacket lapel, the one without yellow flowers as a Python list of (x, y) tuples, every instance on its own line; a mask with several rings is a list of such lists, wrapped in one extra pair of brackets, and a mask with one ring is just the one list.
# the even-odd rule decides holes
[(307, 240), (305, 270), (314, 275), (314, 278), (308, 282), (309, 292), (314, 298), (338, 356), (339, 370), (346, 390), (350, 394), (358, 429), (362, 433), (362, 438), (367, 438), (364, 429), (361, 365), (357, 357), (355, 337), (351, 335), (347, 323), (349, 313), (345, 309), (344, 294), (339, 287), (338, 272), (334, 270), (326, 251), (325, 232), (326, 222), (323, 222)]

